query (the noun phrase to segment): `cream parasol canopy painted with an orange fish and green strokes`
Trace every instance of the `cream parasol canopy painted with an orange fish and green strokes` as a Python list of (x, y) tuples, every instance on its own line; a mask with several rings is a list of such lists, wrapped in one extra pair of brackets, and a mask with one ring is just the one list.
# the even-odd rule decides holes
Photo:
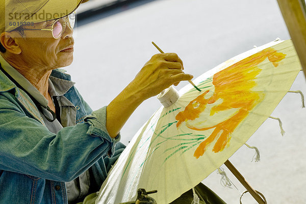
[(196, 78), (201, 92), (189, 84), (175, 101), (173, 88), (165, 91), (175, 102), (157, 110), (136, 133), (96, 203), (131, 201), (144, 188), (158, 190), (152, 197), (167, 204), (193, 188), (261, 126), (299, 71), (291, 40), (273, 41)]

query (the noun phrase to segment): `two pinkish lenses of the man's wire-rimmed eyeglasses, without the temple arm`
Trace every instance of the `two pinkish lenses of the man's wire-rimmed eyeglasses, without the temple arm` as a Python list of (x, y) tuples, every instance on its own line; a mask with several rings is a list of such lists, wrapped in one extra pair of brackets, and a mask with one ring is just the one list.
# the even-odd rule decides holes
[[(67, 22), (66, 22), (67, 21)], [(72, 13), (68, 16), (67, 18), (60, 18), (58, 19), (54, 25), (53, 25), (53, 37), (58, 39), (60, 38), (63, 33), (65, 32), (65, 28), (66, 28), (66, 23), (68, 23), (69, 27), (73, 28), (74, 27), (74, 21), (75, 21), (75, 14)]]

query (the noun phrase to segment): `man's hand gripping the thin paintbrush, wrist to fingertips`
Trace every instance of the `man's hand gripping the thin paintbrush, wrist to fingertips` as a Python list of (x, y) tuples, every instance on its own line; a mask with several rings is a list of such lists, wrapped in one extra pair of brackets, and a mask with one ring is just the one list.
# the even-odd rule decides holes
[(191, 80), (190, 74), (183, 72), (183, 62), (175, 53), (155, 54), (144, 65), (129, 84), (143, 100), (156, 96), (170, 85)]

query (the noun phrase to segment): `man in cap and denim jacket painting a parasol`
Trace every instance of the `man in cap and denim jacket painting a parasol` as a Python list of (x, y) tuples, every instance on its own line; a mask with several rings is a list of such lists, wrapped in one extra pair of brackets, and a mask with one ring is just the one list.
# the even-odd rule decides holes
[(156, 54), (108, 106), (92, 111), (58, 69), (72, 63), (80, 4), (1, 0), (0, 203), (83, 202), (124, 149), (119, 131), (133, 111), (193, 77), (175, 53)]

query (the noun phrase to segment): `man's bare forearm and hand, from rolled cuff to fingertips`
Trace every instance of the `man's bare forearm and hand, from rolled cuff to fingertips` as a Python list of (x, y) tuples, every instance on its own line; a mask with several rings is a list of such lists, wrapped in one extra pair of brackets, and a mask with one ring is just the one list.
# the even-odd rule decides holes
[(155, 54), (135, 79), (107, 106), (106, 128), (115, 137), (135, 109), (172, 84), (193, 78), (183, 72), (183, 62), (175, 53)]

